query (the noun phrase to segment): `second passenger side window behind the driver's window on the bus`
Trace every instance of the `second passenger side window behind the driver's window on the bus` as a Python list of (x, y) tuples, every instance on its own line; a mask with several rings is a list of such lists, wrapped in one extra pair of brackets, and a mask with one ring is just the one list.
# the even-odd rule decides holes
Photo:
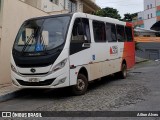
[(106, 23), (106, 33), (108, 42), (117, 42), (115, 24)]

